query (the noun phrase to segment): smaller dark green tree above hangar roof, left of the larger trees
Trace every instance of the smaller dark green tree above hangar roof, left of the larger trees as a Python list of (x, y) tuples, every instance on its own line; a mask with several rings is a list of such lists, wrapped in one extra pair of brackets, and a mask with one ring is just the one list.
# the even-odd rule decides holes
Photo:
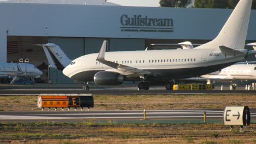
[(191, 3), (191, 0), (160, 0), (161, 7), (180, 7), (184, 8)]

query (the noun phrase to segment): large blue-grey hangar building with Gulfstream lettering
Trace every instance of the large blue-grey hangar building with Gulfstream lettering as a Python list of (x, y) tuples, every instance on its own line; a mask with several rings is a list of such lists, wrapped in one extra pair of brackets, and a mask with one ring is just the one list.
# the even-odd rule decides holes
[[(232, 12), (232, 9), (123, 7), (103, 1), (90, 5), (89, 2), (96, 0), (82, 2), (1, 2), (0, 62), (29, 58), (32, 64), (47, 64), (42, 48), (33, 46), (45, 43), (59, 45), (71, 59), (98, 52), (103, 40), (108, 41), (107, 51), (144, 50), (152, 43), (202, 44), (217, 36)], [(255, 26), (256, 11), (252, 10), (247, 43), (256, 41)], [(54, 83), (73, 82), (54, 69), (44, 70), (42, 78)]]

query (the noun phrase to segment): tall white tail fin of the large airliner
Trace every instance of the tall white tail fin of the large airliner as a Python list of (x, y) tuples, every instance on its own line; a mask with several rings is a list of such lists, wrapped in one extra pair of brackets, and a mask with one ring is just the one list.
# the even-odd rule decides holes
[(225, 46), (235, 50), (244, 49), (251, 7), (252, 0), (240, 0), (218, 36), (196, 48), (219, 49), (219, 46)]

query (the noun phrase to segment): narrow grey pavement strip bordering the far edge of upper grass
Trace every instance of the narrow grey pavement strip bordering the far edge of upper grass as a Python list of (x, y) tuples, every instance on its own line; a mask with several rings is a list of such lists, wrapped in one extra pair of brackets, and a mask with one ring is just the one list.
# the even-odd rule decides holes
[(40, 95), (46, 94), (71, 94), (71, 93), (88, 93), (97, 95), (170, 95), (170, 94), (256, 94), (256, 91), (229, 91), (229, 90), (199, 90), (199, 91), (166, 91), (166, 90), (149, 90), (149, 91), (137, 91), (137, 90), (105, 90), (105, 89), (93, 89), (90, 91), (83, 91), (79, 89), (2, 89), (0, 95)]

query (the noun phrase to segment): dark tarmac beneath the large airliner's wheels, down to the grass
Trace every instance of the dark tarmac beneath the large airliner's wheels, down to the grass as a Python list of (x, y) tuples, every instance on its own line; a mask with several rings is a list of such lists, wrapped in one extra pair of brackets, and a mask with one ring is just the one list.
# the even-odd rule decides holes
[(236, 91), (228, 90), (225, 86), (223, 91), (220, 91), (220, 86), (212, 91), (166, 91), (164, 86), (151, 87), (149, 91), (138, 91), (137, 85), (121, 85), (119, 87), (95, 87), (92, 86), (90, 91), (84, 91), (83, 85), (78, 84), (37, 84), (37, 85), (0, 85), (0, 95), (40, 95), (42, 93), (55, 94), (70, 94), (70, 93), (89, 93), (97, 95), (170, 95), (170, 94), (256, 94), (256, 91), (245, 91), (243, 87), (237, 87)]

